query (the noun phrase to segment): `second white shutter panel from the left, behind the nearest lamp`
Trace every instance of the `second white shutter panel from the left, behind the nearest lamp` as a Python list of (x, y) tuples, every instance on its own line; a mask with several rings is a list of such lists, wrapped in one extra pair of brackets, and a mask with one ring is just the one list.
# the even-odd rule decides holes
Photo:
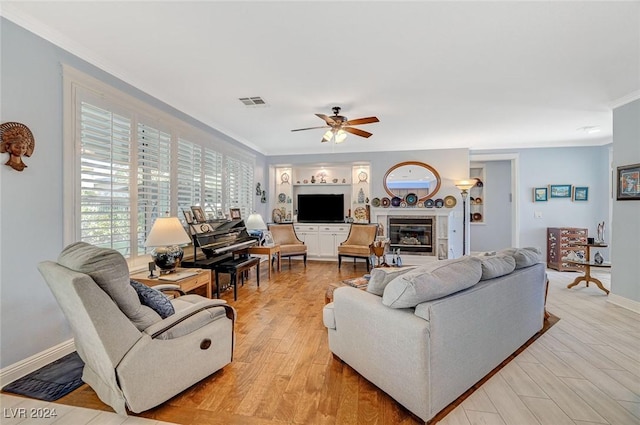
[(171, 134), (138, 124), (138, 255), (157, 217), (171, 211)]

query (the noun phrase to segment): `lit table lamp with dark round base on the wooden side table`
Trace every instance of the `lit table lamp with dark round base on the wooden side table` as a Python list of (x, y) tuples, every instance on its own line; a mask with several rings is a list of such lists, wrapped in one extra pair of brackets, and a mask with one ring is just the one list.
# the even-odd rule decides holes
[(177, 217), (158, 217), (144, 246), (154, 248), (151, 257), (160, 269), (160, 274), (167, 274), (174, 272), (182, 261), (184, 251), (180, 245), (190, 242), (191, 238)]

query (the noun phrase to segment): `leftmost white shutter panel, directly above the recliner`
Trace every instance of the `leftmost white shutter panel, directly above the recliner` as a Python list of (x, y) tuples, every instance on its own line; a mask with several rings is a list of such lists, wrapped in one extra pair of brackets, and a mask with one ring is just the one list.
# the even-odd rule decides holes
[(80, 105), (80, 240), (130, 255), (131, 121)]

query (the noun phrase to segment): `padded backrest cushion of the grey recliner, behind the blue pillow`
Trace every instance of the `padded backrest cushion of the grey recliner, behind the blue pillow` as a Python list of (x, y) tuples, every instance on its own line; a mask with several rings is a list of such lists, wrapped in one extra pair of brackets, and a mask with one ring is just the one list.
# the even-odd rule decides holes
[(162, 320), (158, 313), (140, 303), (129, 283), (127, 261), (118, 251), (76, 242), (62, 250), (58, 264), (91, 276), (139, 330)]

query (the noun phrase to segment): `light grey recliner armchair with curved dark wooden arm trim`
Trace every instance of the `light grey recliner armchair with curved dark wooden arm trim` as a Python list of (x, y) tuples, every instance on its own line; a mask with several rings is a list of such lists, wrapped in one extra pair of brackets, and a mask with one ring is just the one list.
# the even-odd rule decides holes
[(160, 296), (173, 313), (158, 313), (140, 302), (120, 253), (84, 242), (38, 269), (71, 325), (82, 380), (119, 414), (155, 407), (232, 360), (236, 312), (224, 300)]

